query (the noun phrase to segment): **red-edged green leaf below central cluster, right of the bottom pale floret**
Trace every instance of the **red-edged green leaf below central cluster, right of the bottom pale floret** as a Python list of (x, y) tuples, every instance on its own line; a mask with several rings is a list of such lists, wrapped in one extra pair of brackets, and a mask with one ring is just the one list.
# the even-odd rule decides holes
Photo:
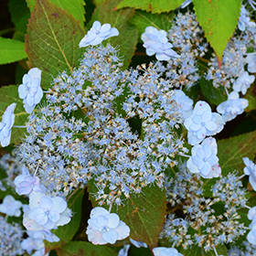
[[(93, 207), (99, 206), (91, 195), (98, 189), (89, 182), (89, 194)], [(150, 249), (157, 247), (158, 235), (165, 221), (165, 191), (159, 187), (144, 187), (140, 195), (131, 195), (123, 200), (122, 207), (113, 207), (120, 219), (131, 229), (133, 240), (144, 241)], [(108, 208), (107, 208), (108, 209)]]

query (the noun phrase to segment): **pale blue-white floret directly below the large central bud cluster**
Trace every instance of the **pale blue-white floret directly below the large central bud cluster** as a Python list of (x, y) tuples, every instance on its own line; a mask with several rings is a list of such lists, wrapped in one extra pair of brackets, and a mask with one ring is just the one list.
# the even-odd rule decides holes
[(93, 208), (90, 218), (86, 234), (93, 244), (113, 244), (116, 240), (123, 240), (130, 234), (130, 228), (119, 219), (119, 216), (105, 208)]

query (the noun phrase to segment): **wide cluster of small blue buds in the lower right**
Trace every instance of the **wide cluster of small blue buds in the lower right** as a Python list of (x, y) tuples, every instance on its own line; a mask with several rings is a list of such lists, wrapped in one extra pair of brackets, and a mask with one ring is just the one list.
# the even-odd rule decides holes
[[(175, 208), (166, 217), (160, 238), (175, 242), (176, 246), (181, 244), (185, 249), (197, 244), (209, 251), (219, 244), (233, 242), (246, 232), (237, 220), (240, 219), (237, 210), (246, 206), (245, 190), (239, 178), (234, 174), (221, 177), (212, 187), (212, 198), (203, 197), (202, 185), (200, 177), (190, 174), (185, 165), (180, 165), (176, 177), (166, 178), (166, 197)], [(220, 202), (224, 213), (216, 216), (212, 206)], [(177, 208), (183, 210), (181, 216)], [(188, 234), (189, 228), (196, 233)]]

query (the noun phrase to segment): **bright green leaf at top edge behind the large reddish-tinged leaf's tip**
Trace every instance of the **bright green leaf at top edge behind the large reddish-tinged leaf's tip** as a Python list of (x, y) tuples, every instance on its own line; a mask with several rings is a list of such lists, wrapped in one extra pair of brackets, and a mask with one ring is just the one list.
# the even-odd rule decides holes
[[(30, 8), (30, 11), (33, 11), (35, 2), (37, 0), (27, 0), (27, 6)], [(68, 14), (71, 14), (76, 20), (79, 20), (82, 24), (85, 21), (84, 15), (84, 0), (49, 0), (53, 5), (57, 5), (61, 10), (67, 10)]]

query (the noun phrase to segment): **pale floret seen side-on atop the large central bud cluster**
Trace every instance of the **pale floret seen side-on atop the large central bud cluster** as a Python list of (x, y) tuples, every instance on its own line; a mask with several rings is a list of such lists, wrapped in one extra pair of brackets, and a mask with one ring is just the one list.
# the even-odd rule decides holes
[(97, 46), (101, 42), (109, 37), (116, 37), (119, 35), (117, 28), (111, 27), (110, 24), (106, 23), (101, 26), (100, 21), (94, 21), (91, 29), (87, 34), (80, 40), (80, 48), (88, 46)]

